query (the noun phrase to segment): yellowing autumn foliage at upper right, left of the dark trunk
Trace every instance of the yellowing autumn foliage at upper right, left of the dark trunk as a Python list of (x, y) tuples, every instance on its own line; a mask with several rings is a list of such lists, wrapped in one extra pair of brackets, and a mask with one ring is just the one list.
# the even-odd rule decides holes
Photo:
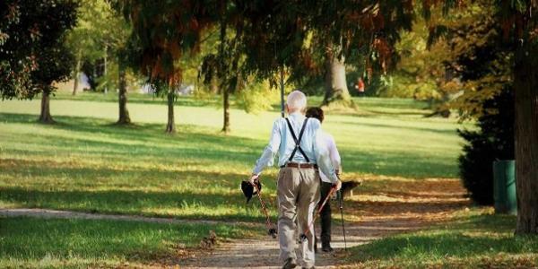
[(480, 117), (483, 101), (510, 81), (510, 48), (499, 42), (494, 6), (477, 1), (450, 13), (430, 8), (430, 20), (419, 18), (402, 34), (396, 46), (402, 59), (381, 94), (429, 100), (433, 109), (456, 109), (462, 119)]

